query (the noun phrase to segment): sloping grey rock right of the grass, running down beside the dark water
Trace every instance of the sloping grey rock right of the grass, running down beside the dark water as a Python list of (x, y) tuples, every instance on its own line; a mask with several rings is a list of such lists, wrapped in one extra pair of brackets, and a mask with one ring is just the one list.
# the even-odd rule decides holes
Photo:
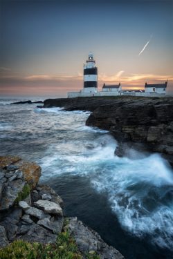
[(82, 255), (89, 253), (89, 251), (95, 251), (100, 256), (100, 259), (124, 258), (118, 250), (109, 247), (109, 245), (100, 238), (97, 232), (86, 227), (81, 221), (78, 221), (77, 218), (69, 218), (69, 224), (66, 228), (69, 229), (71, 235), (75, 238), (75, 242)]

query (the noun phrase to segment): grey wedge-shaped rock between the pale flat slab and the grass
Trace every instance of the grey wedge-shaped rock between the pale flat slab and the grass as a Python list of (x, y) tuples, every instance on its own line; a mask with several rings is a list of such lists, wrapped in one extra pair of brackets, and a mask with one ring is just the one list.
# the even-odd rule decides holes
[(42, 227), (46, 227), (46, 229), (50, 229), (53, 233), (60, 233), (62, 231), (64, 219), (58, 218), (58, 220), (49, 220), (48, 218), (44, 218), (43, 220), (39, 220), (37, 224)]

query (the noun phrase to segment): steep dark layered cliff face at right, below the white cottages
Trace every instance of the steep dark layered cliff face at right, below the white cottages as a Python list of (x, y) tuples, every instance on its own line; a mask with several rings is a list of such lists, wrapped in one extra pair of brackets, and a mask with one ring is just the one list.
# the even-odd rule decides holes
[(86, 125), (110, 131), (120, 142), (117, 155), (125, 153), (125, 145), (145, 144), (148, 151), (162, 153), (173, 164), (173, 99), (133, 99), (102, 105), (93, 111)]

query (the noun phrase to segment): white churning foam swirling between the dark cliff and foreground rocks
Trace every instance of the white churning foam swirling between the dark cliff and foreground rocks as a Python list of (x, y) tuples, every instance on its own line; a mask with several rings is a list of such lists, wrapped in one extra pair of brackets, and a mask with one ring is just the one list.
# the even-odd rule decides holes
[(84, 146), (73, 141), (52, 146), (48, 151), (52, 155), (42, 167), (51, 166), (52, 175), (89, 177), (94, 189), (107, 193), (122, 228), (138, 237), (149, 234), (154, 244), (173, 249), (173, 203), (165, 202), (173, 190), (172, 169), (158, 154), (138, 160), (117, 157), (116, 145), (113, 137), (104, 134)]

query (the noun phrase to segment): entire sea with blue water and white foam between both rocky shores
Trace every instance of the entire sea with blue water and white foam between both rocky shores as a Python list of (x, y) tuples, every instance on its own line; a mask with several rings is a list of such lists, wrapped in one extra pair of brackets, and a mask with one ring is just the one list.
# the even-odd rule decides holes
[(89, 112), (10, 105), (20, 100), (0, 99), (0, 155), (42, 166), (39, 182), (62, 197), (65, 214), (98, 231), (125, 258), (173, 258), (167, 161), (132, 149), (130, 158), (117, 157), (112, 135), (85, 125)]

